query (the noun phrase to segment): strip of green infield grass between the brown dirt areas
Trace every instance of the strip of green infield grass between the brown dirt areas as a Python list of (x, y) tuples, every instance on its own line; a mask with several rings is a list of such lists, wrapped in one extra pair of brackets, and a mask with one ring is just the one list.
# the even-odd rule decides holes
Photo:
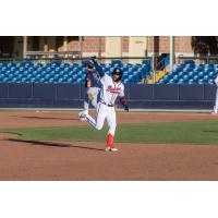
[[(107, 128), (96, 131), (89, 125), (59, 128), (4, 129), (20, 140), (62, 142), (105, 142)], [(218, 144), (218, 122), (170, 122), (120, 124), (116, 142), (167, 144)]]

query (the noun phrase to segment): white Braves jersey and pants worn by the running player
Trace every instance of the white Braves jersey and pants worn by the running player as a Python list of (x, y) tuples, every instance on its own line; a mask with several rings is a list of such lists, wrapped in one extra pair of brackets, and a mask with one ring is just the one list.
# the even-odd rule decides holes
[(100, 78), (100, 100), (97, 106), (97, 118), (95, 120), (87, 114), (86, 121), (95, 129), (101, 130), (106, 119), (109, 126), (108, 134), (114, 135), (117, 120), (113, 106), (118, 96), (124, 96), (124, 85), (121, 82), (113, 82), (107, 74)]

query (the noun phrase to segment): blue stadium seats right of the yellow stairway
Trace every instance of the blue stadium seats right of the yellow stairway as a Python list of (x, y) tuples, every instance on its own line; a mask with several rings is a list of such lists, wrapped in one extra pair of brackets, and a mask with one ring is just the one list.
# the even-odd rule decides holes
[(158, 84), (214, 84), (218, 64), (178, 64)]

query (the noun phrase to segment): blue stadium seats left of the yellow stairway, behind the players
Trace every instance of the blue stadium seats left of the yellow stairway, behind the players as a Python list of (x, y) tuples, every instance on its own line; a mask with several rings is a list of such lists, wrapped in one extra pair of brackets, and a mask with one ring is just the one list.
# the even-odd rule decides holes
[[(150, 72), (149, 60), (140, 63), (123, 63), (113, 60), (111, 63), (100, 63), (104, 71), (111, 74), (114, 68), (123, 71), (123, 83), (140, 83)], [(0, 83), (74, 83), (81, 84), (85, 80), (83, 62), (63, 63), (52, 61), (47, 64), (23, 61), (21, 63), (0, 63)]]

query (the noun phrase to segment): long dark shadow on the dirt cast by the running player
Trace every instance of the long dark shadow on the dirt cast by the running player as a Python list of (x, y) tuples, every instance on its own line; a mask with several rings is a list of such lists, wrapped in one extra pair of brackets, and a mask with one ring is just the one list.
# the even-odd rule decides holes
[(52, 143), (52, 142), (41, 142), (41, 141), (32, 141), (32, 140), (19, 140), (19, 138), (8, 138), (8, 141), (26, 143), (26, 144), (32, 144), (32, 145), (36, 145), (36, 146), (68, 147), (68, 148), (81, 148), (81, 149), (88, 149), (88, 150), (105, 152), (105, 149), (102, 149), (102, 148), (70, 145), (70, 144), (64, 144), (64, 143)]

